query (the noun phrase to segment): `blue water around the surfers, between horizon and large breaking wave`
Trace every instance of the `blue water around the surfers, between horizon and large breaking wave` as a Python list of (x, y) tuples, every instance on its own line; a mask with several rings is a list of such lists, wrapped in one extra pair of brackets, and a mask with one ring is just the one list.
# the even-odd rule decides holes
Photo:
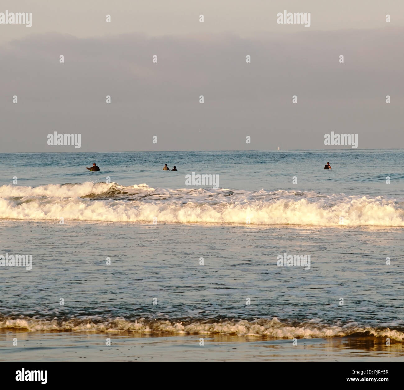
[[(0, 184), (111, 181), (124, 186), (184, 188), (185, 174), (219, 175), (219, 187), (231, 190), (317, 190), (324, 194), (402, 196), (404, 150), (223, 151), (120, 153), (3, 153)], [(324, 171), (330, 162), (331, 171)], [(93, 162), (101, 168), (90, 172)], [(167, 163), (177, 172), (162, 171)], [(297, 184), (292, 178), (297, 177)], [(391, 183), (385, 183), (389, 176)]]

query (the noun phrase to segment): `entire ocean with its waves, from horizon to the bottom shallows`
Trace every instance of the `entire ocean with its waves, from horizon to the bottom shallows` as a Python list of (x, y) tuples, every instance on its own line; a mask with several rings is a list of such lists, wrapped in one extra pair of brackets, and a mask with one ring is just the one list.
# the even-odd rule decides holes
[(0, 154), (0, 361), (402, 361), (403, 156)]

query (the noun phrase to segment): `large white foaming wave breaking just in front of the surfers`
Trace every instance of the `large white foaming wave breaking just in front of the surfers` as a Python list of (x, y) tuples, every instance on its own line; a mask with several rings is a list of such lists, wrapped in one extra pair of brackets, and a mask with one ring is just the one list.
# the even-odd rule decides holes
[(393, 198), (314, 191), (131, 187), (117, 183), (0, 187), (0, 219), (404, 226)]

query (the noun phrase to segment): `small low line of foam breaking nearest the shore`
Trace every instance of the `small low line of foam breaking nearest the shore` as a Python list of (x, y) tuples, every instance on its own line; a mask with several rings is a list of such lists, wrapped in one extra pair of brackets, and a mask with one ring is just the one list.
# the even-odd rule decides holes
[[(93, 322), (94, 320), (94, 322)], [(226, 334), (238, 336), (265, 336), (270, 338), (323, 338), (343, 337), (356, 334), (358, 336), (389, 337), (404, 342), (402, 331), (384, 328), (359, 327), (358, 325), (332, 326), (319, 323), (302, 323), (291, 326), (282, 323), (278, 318), (259, 319), (255, 321), (194, 321), (176, 322), (168, 320), (129, 321), (115, 318), (107, 321), (98, 318), (72, 320), (45, 320), (36, 318), (4, 318), (0, 320), (0, 329), (20, 329), (24, 331), (88, 331), (104, 332), (136, 332), (136, 333), (173, 333), (173, 334)]]

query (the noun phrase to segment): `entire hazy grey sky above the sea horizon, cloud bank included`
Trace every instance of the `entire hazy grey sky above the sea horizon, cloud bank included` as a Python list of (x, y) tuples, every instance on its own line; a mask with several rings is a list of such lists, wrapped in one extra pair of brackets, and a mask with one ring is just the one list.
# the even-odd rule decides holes
[[(32, 27), (0, 24), (0, 152), (351, 148), (324, 145), (332, 131), (403, 148), (402, 0), (0, 0), (6, 10), (32, 13)], [(310, 13), (310, 27), (278, 24), (284, 10)], [(55, 131), (81, 134), (81, 148), (48, 145)]]

